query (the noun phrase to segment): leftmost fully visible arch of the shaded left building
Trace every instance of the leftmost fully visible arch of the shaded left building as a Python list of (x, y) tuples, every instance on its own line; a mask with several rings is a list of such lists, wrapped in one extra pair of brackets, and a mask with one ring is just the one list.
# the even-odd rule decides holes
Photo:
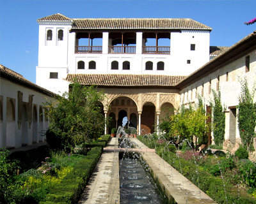
[(7, 98), (6, 104), (6, 147), (15, 147), (15, 100)]

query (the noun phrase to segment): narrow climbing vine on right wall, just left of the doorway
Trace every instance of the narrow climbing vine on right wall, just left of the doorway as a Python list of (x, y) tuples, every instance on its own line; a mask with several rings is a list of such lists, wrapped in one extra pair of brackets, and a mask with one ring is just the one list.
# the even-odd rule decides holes
[(214, 90), (212, 90), (213, 93), (213, 100), (211, 101), (211, 107), (212, 107), (212, 128), (213, 128), (213, 136), (214, 136), (214, 142), (216, 145), (222, 145), (224, 141), (224, 135), (225, 135), (225, 112), (223, 109), (223, 106), (221, 105), (221, 94), (220, 91), (218, 93)]

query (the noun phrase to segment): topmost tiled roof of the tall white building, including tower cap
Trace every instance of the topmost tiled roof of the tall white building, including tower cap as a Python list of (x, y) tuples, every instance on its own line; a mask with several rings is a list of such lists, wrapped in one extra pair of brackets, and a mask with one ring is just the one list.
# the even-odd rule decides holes
[(72, 29), (200, 29), (212, 30), (191, 18), (68, 18), (60, 13), (39, 18), (44, 21), (74, 21)]

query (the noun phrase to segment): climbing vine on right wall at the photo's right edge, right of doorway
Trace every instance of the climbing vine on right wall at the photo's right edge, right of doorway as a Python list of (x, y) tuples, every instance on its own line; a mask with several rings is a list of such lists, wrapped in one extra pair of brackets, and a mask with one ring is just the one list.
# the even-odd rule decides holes
[(256, 103), (253, 103), (255, 87), (249, 91), (247, 80), (241, 81), (241, 94), (238, 105), (238, 127), (244, 147), (250, 150), (255, 138)]

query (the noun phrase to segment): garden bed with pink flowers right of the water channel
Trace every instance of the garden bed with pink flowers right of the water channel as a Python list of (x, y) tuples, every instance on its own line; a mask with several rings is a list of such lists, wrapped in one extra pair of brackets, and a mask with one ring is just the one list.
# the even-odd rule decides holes
[[(182, 150), (174, 145), (157, 143), (151, 138), (137, 137), (171, 164), (193, 184), (200, 187), (218, 203), (256, 203), (256, 166), (249, 160), (239, 161), (234, 156), (202, 156), (199, 152)], [(247, 192), (248, 191), (248, 192)]]

